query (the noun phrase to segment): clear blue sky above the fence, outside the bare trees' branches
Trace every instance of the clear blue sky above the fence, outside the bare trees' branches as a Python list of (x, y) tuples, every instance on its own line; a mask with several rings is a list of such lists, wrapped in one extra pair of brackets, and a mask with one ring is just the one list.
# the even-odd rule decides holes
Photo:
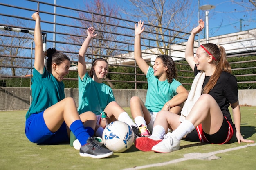
[[(54, 3), (54, 0), (42, 0), (43, 2)], [(84, 2), (89, 2), (90, 0), (56, 0), (58, 5), (71, 7), (71, 8), (81, 8)], [(198, 4), (198, 0), (192, 0), (195, 5)], [(26, 0), (0, 0), (1, 3), (17, 5), (25, 8), (37, 9), (37, 5), (34, 2)], [(107, 3), (115, 3), (121, 7), (130, 7), (128, 0), (104, 0)], [(215, 9), (209, 11), (209, 37), (223, 35), (227, 33), (234, 33), (240, 30), (245, 31), (249, 29), (256, 28), (256, 12), (248, 12), (239, 7), (237, 4), (231, 2), (231, 0), (200, 0), (200, 6), (205, 4), (215, 5)], [(40, 6), (42, 10), (43, 6)], [(49, 12), (53, 12), (52, 9), (47, 9)], [(31, 15), (31, 11), (24, 10), (13, 10), (12, 8), (7, 8), (0, 5), (0, 13), (9, 14), (9, 15), (20, 15), (28, 17)], [(61, 9), (57, 13), (62, 13)], [(67, 11), (65, 11), (65, 14)], [(0, 16), (0, 20), (2, 16)], [(42, 16), (41, 16), (42, 17)], [(205, 20), (205, 12), (200, 10), (200, 18)], [(44, 20), (46, 20), (44, 18)], [(195, 16), (195, 22), (197, 22), (198, 16)], [(49, 18), (49, 21), (52, 22), (52, 18)], [(2, 21), (3, 22), (3, 21)], [(1, 23), (1, 22), (0, 22)], [(31, 24), (30, 28), (33, 28)]]

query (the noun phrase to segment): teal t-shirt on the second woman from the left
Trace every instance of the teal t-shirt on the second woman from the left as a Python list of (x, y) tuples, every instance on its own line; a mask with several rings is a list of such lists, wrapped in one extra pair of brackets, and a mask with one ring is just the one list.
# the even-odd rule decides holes
[(115, 101), (111, 87), (104, 83), (97, 83), (86, 72), (83, 80), (78, 77), (78, 113), (92, 111), (101, 114), (108, 103)]

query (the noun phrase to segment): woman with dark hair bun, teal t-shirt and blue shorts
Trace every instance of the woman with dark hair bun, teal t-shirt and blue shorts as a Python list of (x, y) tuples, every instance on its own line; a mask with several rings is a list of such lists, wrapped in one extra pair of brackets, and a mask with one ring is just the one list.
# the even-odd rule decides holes
[(55, 48), (49, 48), (45, 68), (39, 13), (34, 13), (32, 18), (36, 21), (35, 60), (31, 86), (33, 100), (26, 114), (27, 138), (37, 144), (68, 142), (71, 130), (81, 143), (81, 156), (103, 158), (112, 155), (112, 151), (99, 146), (92, 137), (96, 124), (94, 113), (83, 114), (81, 120), (74, 99), (65, 98), (62, 80), (69, 72), (70, 59)]

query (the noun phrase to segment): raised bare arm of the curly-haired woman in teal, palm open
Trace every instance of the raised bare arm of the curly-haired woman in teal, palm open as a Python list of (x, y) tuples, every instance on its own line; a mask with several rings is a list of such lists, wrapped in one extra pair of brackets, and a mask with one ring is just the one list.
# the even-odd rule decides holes
[(140, 43), (140, 35), (144, 31), (145, 27), (143, 27), (144, 22), (139, 21), (138, 27), (135, 24), (135, 40), (134, 40), (134, 58), (136, 60), (137, 65), (141, 69), (144, 74), (148, 72), (148, 64), (142, 58), (141, 54), (141, 43)]

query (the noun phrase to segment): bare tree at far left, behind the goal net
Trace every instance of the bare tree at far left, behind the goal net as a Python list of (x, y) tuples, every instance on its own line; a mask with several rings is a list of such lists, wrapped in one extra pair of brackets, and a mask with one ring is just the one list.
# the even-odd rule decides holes
[[(13, 19), (13, 23), (22, 26), (22, 22)], [(9, 22), (7, 22), (9, 23)], [(15, 27), (15, 26), (10, 26)], [(29, 33), (15, 31), (0, 31), (0, 74), (8, 76), (20, 76), (29, 73), (31, 65), (31, 42), (34, 37)], [(19, 68), (17, 68), (19, 66)]]

